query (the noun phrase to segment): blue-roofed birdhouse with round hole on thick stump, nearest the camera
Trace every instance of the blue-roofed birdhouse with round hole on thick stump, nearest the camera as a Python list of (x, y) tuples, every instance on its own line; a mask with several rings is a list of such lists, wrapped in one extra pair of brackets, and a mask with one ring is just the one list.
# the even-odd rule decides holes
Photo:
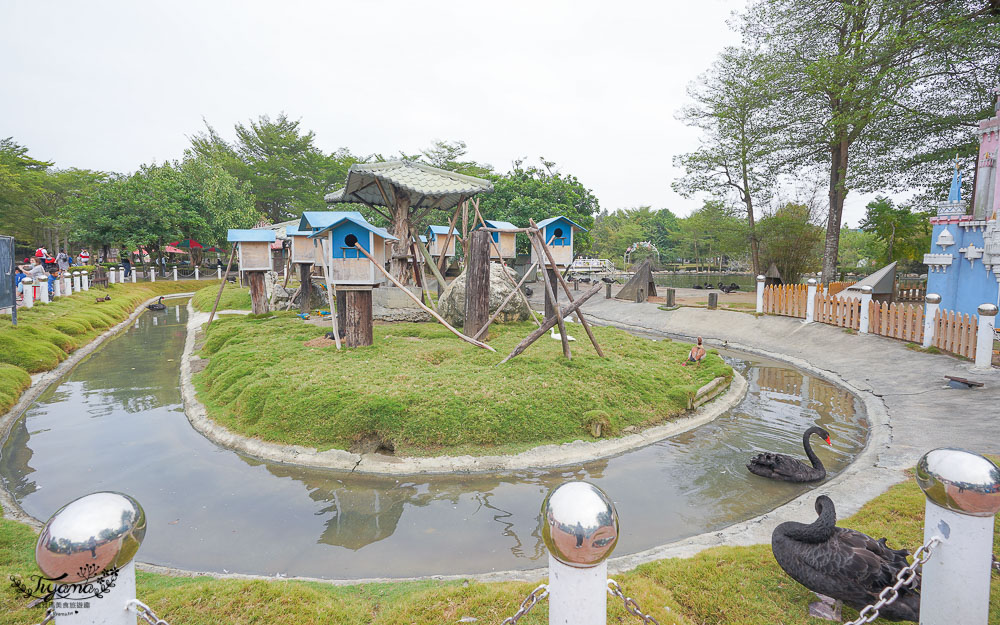
[(368, 223), (360, 213), (342, 214), (329, 225), (316, 229), (310, 238), (317, 242), (319, 254), (324, 254), (325, 244), (323, 258), (328, 261), (330, 279), (338, 287), (374, 286), (384, 282), (382, 272), (376, 270), (355, 246), (360, 246), (376, 263), (384, 266), (388, 257), (386, 244), (397, 240), (384, 228)]

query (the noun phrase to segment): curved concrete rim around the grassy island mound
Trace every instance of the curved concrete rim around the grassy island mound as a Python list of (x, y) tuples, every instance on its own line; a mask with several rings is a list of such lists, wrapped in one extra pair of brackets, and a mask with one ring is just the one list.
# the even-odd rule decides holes
[[(219, 314), (247, 311), (221, 311)], [(738, 405), (746, 395), (748, 384), (737, 371), (729, 385), (719, 378), (702, 386), (694, 400), (694, 410), (670, 423), (647, 428), (634, 434), (595, 442), (574, 441), (560, 445), (540, 445), (511, 456), (433, 456), (397, 457), (382, 454), (358, 454), (343, 449), (317, 451), (301, 445), (283, 445), (236, 434), (216, 423), (198, 400), (192, 376), (192, 362), (199, 360), (194, 353), (196, 334), (208, 320), (208, 314), (197, 312), (188, 304), (187, 337), (181, 357), (181, 397), (184, 414), (191, 425), (217, 445), (254, 458), (310, 468), (333, 469), (367, 475), (417, 475), (445, 473), (495, 473), (527, 469), (553, 469), (616, 456), (645, 447), (670, 436), (686, 432), (712, 421)], [(724, 378), (723, 378), (724, 379)], [(725, 389), (725, 393), (722, 390)]]

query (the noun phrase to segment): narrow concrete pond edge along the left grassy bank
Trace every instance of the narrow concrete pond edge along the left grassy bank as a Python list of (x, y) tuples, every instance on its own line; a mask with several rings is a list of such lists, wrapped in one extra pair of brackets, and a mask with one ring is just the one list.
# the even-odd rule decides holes
[[(194, 292), (185, 293), (171, 293), (169, 295), (163, 295), (163, 299), (174, 299), (182, 297), (192, 297)], [(66, 360), (62, 361), (53, 369), (48, 371), (42, 371), (41, 373), (34, 373), (31, 375), (31, 386), (29, 386), (23, 393), (21, 393), (20, 399), (14, 404), (14, 407), (8, 410), (5, 414), (0, 416), (0, 444), (6, 442), (7, 437), (10, 436), (10, 430), (17, 423), (17, 420), (21, 417), (25, 410), (28, 409), (38, 397), (45, 392), (49, 386), (54, 382), (57, 382), (64, 375), (69, 373), (69, 371), (83, 362), (87, 357), (89, 357), (94, 351), (97, 350), (105, 341), (110, 338), (117, 336), (122, 330), (132, 325), (132, 323), (146, 310), (146, 306), (158, 301), (160, 296), (151, 297), (148, 300), (137, 305), (135, 309), (129, 313), (123, 321), (115, 324), (114, 326), (108, 328), (91, 342), (87, 343), (83, 347), (75, 350)], [(66, 502), (69, 503), (69, 502)], [(30, 525), (36, 531), (42, 528), (42, 523), (35, 517), (31, 516), (21, 508), (20, 504), (14, 499), (13, 495), (7, 491), (6, 486), (0, 488), (0, 505), (3, 506), (3, 516), (7, 519), (12, 519), (14, 521), (20, 521), (26, 525)]]

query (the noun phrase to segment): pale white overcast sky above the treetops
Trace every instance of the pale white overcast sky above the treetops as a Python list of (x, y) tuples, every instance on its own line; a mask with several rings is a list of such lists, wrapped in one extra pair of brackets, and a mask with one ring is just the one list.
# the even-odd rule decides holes
[[(463, 140), (506, 171), (539, 156), (608, 209), (686, 215), (675, 119), (744, 0), (0, 3), (0, 137), (58, 167), (133, 171), (188, 136), (284, 111), (326, 151)], [(856, 224), (863, 198), (848, 199)]]

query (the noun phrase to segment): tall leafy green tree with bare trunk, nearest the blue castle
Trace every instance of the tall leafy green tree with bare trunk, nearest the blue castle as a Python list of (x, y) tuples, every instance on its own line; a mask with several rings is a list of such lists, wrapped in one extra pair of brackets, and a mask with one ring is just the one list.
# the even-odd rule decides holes
[(1000, 67), (998, 23), (989, 0), (756, 0), (742, 15), (772, 66), (785, 157), (829, 172), (824, 279), (852, 188), (912, 184), (907, 161), (968, 148)]

